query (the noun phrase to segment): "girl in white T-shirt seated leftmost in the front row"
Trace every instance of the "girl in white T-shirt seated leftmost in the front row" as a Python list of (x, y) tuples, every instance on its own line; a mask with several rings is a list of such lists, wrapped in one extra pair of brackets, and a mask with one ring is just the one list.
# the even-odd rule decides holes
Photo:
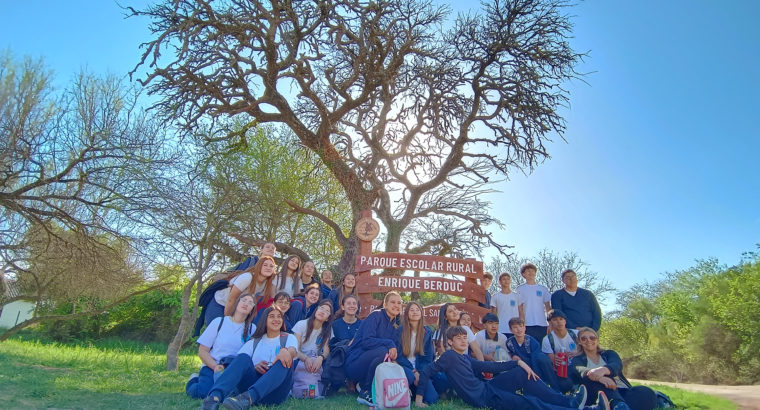
[(214, 384), (214, 374), (224, 371), (251, 336), (256, 326), (253, 324), (255, 311), (253, 295), (243, 293), (235, 301), (232, 316), (218, 317), (211, 321), (198, 338), (198, 357), (203, 366), (200, 373), (194, 373), (185, 386), (187, 395), (194, 399), (206, 397)]

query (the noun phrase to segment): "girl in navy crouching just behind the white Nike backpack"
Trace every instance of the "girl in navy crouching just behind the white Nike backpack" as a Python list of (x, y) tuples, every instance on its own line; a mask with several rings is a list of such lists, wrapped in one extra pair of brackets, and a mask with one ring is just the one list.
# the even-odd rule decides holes
[(372, 406), (372, 379), (377, 365), (382, 363), (386, 355), (391, 360), (398, 359), (402, 304), (398, 292), (388, 292), (383, 299), (383, 308), (370, 313), (362, 321), (348, 348), (346, 377), (359, 383), (357, 401), (361, 404)]

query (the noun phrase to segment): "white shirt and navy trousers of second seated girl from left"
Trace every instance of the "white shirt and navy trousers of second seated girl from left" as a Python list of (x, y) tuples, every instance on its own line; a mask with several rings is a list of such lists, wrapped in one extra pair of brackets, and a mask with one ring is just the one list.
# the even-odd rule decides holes
[[(264, 335), (255, 351), (253, 342), (249, 340), (240, 348), (238, 356), (214, 383), (209, 397), (215, 396), (222, 402), (233, 391), (248, 390), (254, 405), (277, 406), (285, 402), (293, 387), (293, 368), (287, 368), (279, 361), (270, 365), (264, 374), (254, 368), (261, 361), (274, 362), (281, 348), (280, 336), (270, 338)], [(285, 348), (288, 347), (298, 349), (296, 337), (290, 334), (285, 343)]]

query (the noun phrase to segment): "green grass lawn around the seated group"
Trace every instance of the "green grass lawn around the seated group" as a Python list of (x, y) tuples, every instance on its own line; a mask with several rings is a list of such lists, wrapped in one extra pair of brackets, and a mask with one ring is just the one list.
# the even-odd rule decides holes
[[(166, 346), (122, 341), (54, 343), (22, 335), (0, 342), (0, 408), (197, 409), (200, 401), (184, 393), (197, 372), (194, 350), (180, 354), (179, 371), (164, 370)], [(730, 409), (728, 401), (660, 387), (682, 408)], [(357, 409), (355, 396), (327, 400), (289, 399), (280, 408)], [(462, 409), (460, 400), (446, 400), (431, 409)]]

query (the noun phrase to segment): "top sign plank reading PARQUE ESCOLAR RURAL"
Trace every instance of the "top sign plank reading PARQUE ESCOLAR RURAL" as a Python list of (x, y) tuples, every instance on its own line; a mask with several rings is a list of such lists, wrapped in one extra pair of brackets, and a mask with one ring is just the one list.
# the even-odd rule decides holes
[(483, 278), (483, 262), (434, 255), (409, 255), (398, 252), (358, 255), (355, 270), (400, 269), (451, 273), (473, 279)]

